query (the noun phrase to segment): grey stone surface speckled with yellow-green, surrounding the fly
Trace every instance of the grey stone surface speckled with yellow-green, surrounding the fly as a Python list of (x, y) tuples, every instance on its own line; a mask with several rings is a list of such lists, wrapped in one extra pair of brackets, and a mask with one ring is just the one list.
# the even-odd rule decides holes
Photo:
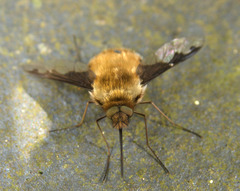
[[(0, 2), (0, 190), (237, 190), (240, 126), (240, 4), (238, 0)], [(109, 181), (98, 183), (106, 148), (90, 106), (77, 124), (88, 92), (27, 75), (22, 63), (68, 60), (80, 40), (84, 62), (109, 47), (148, 55), (174, 37), (204, 36), (191, 60), (148, 86), (151, 99), (175, 122), (203, 136), (174, 129), (150, 106), (152, 147), (171, 172), (146, 151), (143, 119), (124, 131), (125, 180), (120, 178), (118, 133), (101, 122), (112, 151)], [(199, 101), (199, 102), (198, 102)]]

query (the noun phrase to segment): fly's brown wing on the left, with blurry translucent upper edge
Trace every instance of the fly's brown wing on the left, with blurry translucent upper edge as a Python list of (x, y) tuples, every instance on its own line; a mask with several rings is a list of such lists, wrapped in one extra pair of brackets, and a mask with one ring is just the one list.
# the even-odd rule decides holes
[[(42, 78), (48, 78), (65, 83), (69, 83), (78, 87), (92, 90), (92, 83), (95, 79), (95, 74), (92, 70), (87, 69), (82, 71), (76, 68), (67, 67), (67, 62), (64, 64), (61, 61), (56, 63), (58, 67), (46, 68), (43, 65), (24, 65), (23, 69), (31, 74), (37, 75)], [(78, 67), (79, 68), (79, 67)]]

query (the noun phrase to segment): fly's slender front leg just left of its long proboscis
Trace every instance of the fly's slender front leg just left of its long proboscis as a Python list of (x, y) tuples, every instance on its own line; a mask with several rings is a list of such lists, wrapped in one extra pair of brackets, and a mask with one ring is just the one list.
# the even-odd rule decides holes
[(108, 145), (108, 142), (107, 142), (107, 140), (106, 140), (106, 138), (105, 138), (105, 136), (104, 136), (104, 134), (103, 134), (103, 132), (102, 132), (102, 129), (101, 129), (100, 125), (98, 124), (98, 121), (104, 119), (105, 117), (106, 117), (106, 115), (103, 116), (103, 117), (100, 117), (99, 119), (96, 120), (98, 129), (100, 130), (101, 135), (102, 135), (102, 137), (103, 137), (103, 140), (104, 140), (104, 142), (106, 143), (106, 146), (107, 146), (107, 149), (108, 149), (107, 162), (106, 162), (106, 165), (105, 165), (105, 169), (104, 169), (104, 171), (103, 171), (103, 174), (102, 174), (102, 176), (101, 176), (101, 178), (100, 178), (100, 182), (106, 182), (106, 181), (107, 181), (108, 171), (109, 171), (109, 164), (110, 164), (110, 154), (111, 154), (111, 153), (110, 153), (110, 147), (109, 147), (109, 145)]

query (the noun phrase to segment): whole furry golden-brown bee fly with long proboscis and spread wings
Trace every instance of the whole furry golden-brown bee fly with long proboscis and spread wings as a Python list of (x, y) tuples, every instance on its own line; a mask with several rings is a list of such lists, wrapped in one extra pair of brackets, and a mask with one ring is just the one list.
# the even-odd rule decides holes
[[(76, 38), (74, 38), (77, 47)], [(106, 181), (110, 164), (110, 147), (99, 125), (99, 121), (109, 118), (112, 121), (113, 128), (119, 131), (120, 140), (120, 161), (121, 176), (123, 177), (123, 138), (122, 131), (128, 127), (129, 119), (133, 115), (143, 117), (145, 122), (146, 144), (150, 149), (158, 164), (168, 173), (168, 169), (161, 162), (148, 141), (147, 119), (145, 114), (135, 111), (138, 104), (151, 104), (163, 117), (165, 117), (174, 127), (192, 133), (198, 137), (199, 134), (181, 127), (168, 118), (153, 102), (142, 101), (147, 84), (174, 67), (178, 63), (190, 58), (197, 53), (203, 45), (201, 39), (188, 41), (185, 38), (174, 39), (164, 44), (155, 52), (155, 62), (152, 65), (143, 63), (142, 57), (129, 49), (117, 48), (108, 49), (94, 56), (88, 64), (86, 71), (68, 71), (60, 72), (58, 70), (40, 70), (33, 66), (25, 67), (25, 70), (31, 74), (35, 74), (42, 78), (48, 78), (61, 82), (66, 82), (75, 86), (86, 88), (89, 90), (91, 101), (88, 101), (82, 116), (82, 120), (78, 125), (63, 129), (54, 129), (60, 131), (64, 129), (80, 127), (83, 124), (89, 104), (95, 103), (100, 106), (105, 114), (96, 120), (97, 127), (101, 132), (102, 138), (107, 147), (107, 162), (101, 181)], [(77, 54), (80, 60), (79, 53)]]

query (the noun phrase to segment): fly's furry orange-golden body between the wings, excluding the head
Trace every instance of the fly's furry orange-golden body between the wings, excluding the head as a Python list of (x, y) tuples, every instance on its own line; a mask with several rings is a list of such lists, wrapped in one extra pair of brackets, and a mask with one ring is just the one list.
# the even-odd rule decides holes
[(136, 73), (140, 63), (141, 56), (128, 49), (109, 49), (92, 58), (89, 68), (96, 75), (92, 99), (105, 111), (114, 105), (134, 108), (144, 93)]

